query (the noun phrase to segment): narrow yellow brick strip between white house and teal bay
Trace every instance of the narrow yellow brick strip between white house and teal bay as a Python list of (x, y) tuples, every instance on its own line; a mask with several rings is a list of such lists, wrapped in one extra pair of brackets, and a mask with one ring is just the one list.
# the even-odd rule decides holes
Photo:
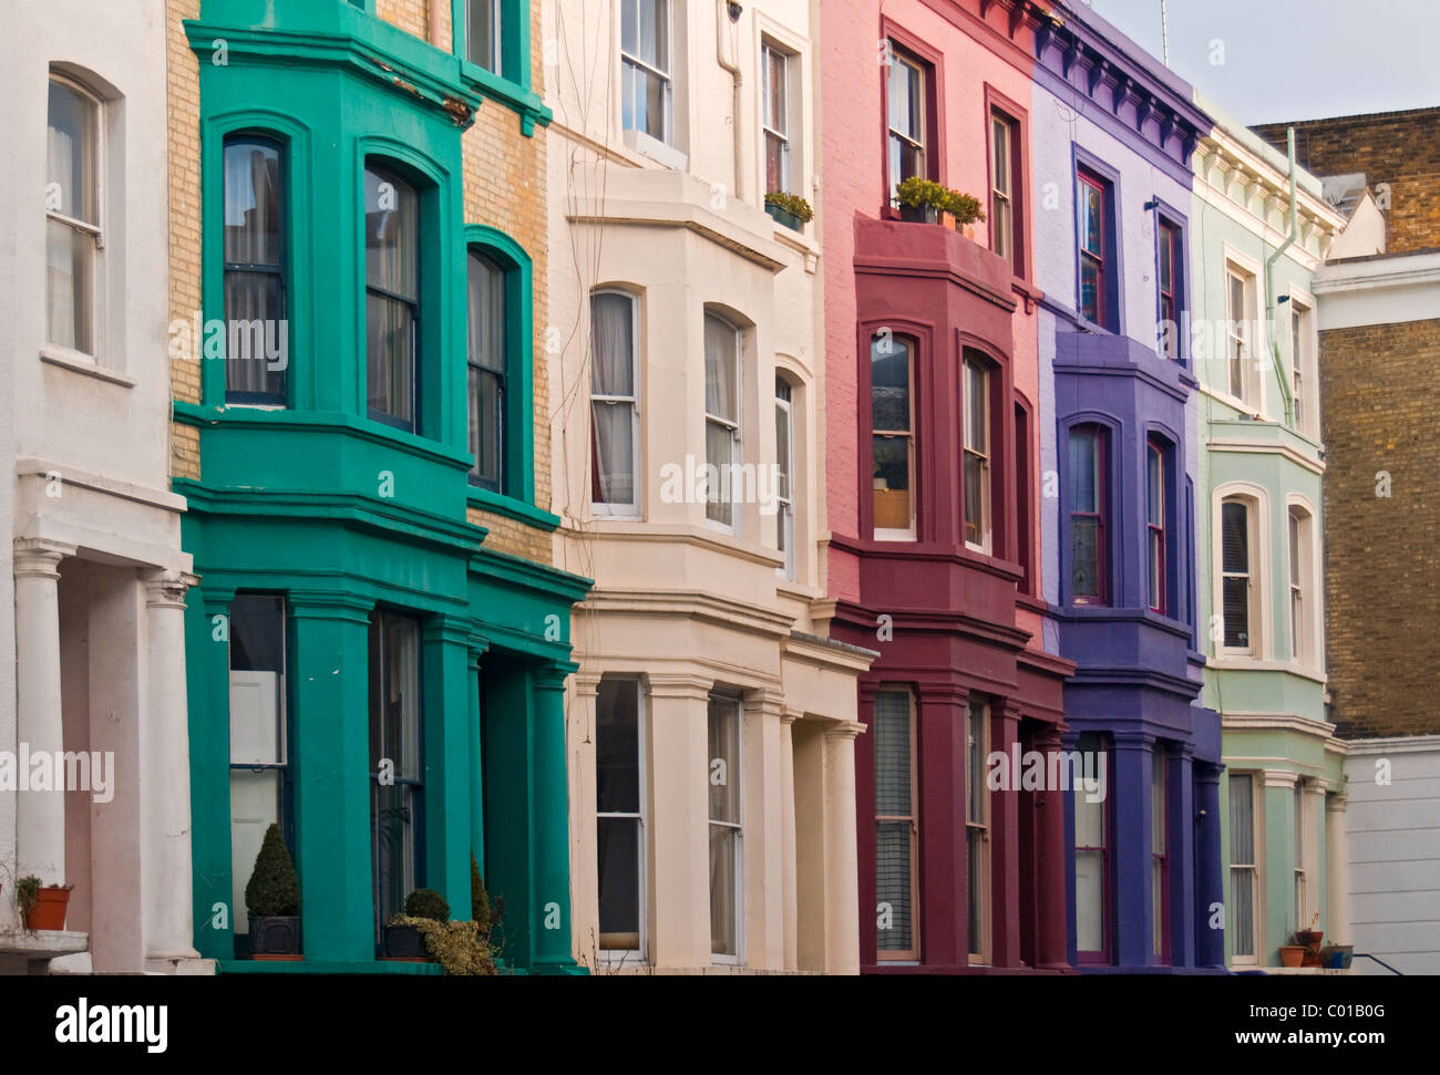
[[(170, 99), (170, 319), (189, 322), (200, 309), (200, 59), (190, 52), (183, 19), (200, 16), (200, 0), (167, 0), (166, 43)], [(200, 402), (200, 364), (170, 363), (170, 391)], [(170, 426), (170, 473), (200, 476), (200, 432)]]

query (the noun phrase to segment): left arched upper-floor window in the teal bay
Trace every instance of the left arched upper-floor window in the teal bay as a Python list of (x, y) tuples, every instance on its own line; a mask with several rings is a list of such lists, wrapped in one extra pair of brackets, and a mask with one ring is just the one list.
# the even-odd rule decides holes
[(285, 406), (285, 157), (262, 134), (225, 140), (225, 402)]

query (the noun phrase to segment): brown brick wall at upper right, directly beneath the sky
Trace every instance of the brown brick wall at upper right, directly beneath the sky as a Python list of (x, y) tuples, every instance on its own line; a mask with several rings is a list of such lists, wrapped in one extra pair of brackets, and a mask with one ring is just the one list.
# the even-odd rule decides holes
[[(1284, 151), (1286, 124), (1254, 130)], [(1295, 155), (1316, 176), (1364, 171), (1371, 190), (1390, 184), (1390, 253), (1440, 246), (1440, 108), (1299, 122)]]

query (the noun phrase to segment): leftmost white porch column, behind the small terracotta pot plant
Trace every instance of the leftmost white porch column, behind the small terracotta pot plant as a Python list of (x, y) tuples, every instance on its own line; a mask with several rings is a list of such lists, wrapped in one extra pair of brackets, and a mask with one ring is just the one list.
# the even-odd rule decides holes
[[(37, 538), (14, 543), (14, 663), (17, 750), (33, 757), (63, 751), (60, 712), (60, 560), (73, 545)], [(23, 780), (23, 774), (17, 773)], [(63, 789), (65, 774), (59, 774)], [(65, 791), (19, 791), (16, 875), (42, 885), (65, 882)]]

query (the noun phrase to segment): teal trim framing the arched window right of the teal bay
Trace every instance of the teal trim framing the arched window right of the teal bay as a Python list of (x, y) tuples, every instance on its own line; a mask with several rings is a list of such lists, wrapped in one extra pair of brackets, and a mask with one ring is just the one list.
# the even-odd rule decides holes
[[(505, 378), (510, 383), (508, 402), (505, 406), (505, 459), (504, 459), (504, 494), (495, 496), (497, 501), (520, 501), (526, 508), (534, 502), (534, 263), (520, 243), (504, 232), (487, 224), (465, 224), (465, 252), (475, 248), (488, 255), (505, 271)], [(468, 266), (462, 279), (468, 279)], [(467, 292), (468, 294), (468, 292)], [(467, 302), (467, 315), (468, 315)], [(468, 384), (468, 366), (467, 366)], [(472, 496), (485, 494), (494, 496), (487, 489), (471, 486)], [(510, 514), (521, 522), (531, 522), (526, 515), (514, 515), (504, 508), (491, 507), (491, 511)], [(539, 514), (539, 509), (536, 509)], [(554, 530), (560, 525), (554, 518)], [(543, 525), (543, 524), (541, 524)]]

